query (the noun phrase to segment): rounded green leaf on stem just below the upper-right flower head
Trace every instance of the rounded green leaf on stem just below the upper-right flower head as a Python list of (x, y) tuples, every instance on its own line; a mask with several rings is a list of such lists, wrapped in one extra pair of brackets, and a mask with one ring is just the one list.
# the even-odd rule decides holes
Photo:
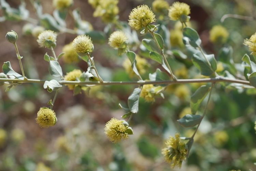
[(183, 30), (183, 36), (187, 37), (188, 42), (191, 46), (194, 48), (199, 47), (201, 45), (201, 39), (197, 33), (196, 30), (190, 28), (190, 27), (185, 27)]

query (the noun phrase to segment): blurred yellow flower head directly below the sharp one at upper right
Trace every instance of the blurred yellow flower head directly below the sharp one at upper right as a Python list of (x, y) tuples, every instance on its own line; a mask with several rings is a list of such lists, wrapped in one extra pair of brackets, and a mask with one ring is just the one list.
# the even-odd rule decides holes
[(173, 47), (184, 47), (183, 34), (181, 30), (170, 30), (170, 43)]

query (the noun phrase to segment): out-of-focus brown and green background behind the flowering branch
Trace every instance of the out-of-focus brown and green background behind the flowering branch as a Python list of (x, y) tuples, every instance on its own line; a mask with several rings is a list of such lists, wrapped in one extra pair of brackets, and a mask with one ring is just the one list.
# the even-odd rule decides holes
[[(20, 1), (8, 0), (11, 7), (17, 8)], [(37, 19), (36, 11), (29, 0), (24, 1), (30, 17)], [(119, 20), (127, 22), (132, 8), (139, 4), (152, 6), (152, 0), (119, 0)], [(168, 0), (169, 5), (174, 1)], [(232, 59), (241, 63), (242, 56), (248, 52), (243, 39), (255, 33), (256, 22), (239, 19), (226, 19), (225, 14), (252, 16), (255, 6), (250, 0), (184, 0), (191, 8), (191, 27), (196, 29), (202, 40), (202, 47), (208, 54), (215, 54), (219, 61), (218, 51), (231, 46)], [(256, 4), (256, 2), (255, 2)], [(43, 13), (52, 14), (54, 7), (51, 0), (42, 1)], [(117, 51), (107, 44), (112, 25), (102, 22), (100, 17), (93, 17), (94, 9), (86, 0), (75, 0), (70, 11), (80, 9), (81, 18), (88, 21), (96, 34), (93, 38), (96, 66), (103, 80), (136, 81), (123, 67), (127, 58), (118, 56)], [(67, 28), (73, 28), (71, 12), (67, 14)], [(4, 15), (1, 8), (0, 16)], [(156, 13), (156, 23), (161, 25), (158, 32), (171, 49), (185, 53), (179, 37), (172, 42), (175, 34), (175, 22)], [(7, 31), (14, 30), (19, 35), (17, 45), (24, 56), (23, 65), (26, 75), (32, 79), (52, 78), (48, 74), (48, 64), (43, 60), (47, 49), (39, 48), (36, 38), (25, 35), (22, 31), (27, 21), (0, 22), (0, 63), (10, 61), (15, 71), (20, 72), (13, 46), (5, 40)], [(214, 25), (222, 25), (229, 33), (227, 42), (213, 44), (209, 31)], [(109, 29), (109, 27), (111, 29)], [(106, 30), (109, 29), (109, 33)], [(171, 35), (168, 35), (168, 34)], [(34, 33), (35, 34), (35, 33)], [(92, 32), (91, 34), (94, 34)], [(171, 37), (170, 37), (171, 36)], [(57, 37), (57, 54), (63, 46), (69, 44), (76, 35), (59, 33)], [(92, 36), (93, 37), (93, 36)], [(141, 40), (141, 37), (138, 36)], [(138, 43), (135, 41), (135, 43)], [(171, 46), (172, 45), (172, 46)], [(175, 48), (176, 47), (176, 48)], [(142, 73), (148, 79), (148, 73), (159, 67), (148, 60), (143, 51), (139, 54), (146, 59), (148, 68)], [(178, 78), (202, 78), (199, 71), (191, 67), (191, 61), (179, 55), (169, 57), (168, 61)], [(87, 70), (83, 61), (65, 63), (60, 59), (63, 73), (73, 69)], [(222, 63), (221, 63), (222, 64)], [(225, 66), (219, 72), (232, 69)], [(240, 64), (239, 64), (240, 65)], [(243, 68), (242, 68), (243, 69)], [(242, 70), (241, 69), (241, 70)], [(242, 75), (241, 75), (242, 77)], [(118, 103), (125, 104), (135, 86), (97, 86), (91, 90), (73, 96), (65, 86), (60, 89), (54, 105), (58, 122), (55, 126), (43, 129), (35, 122), (40, 106), (45, 106), (53, 94), (48, 93), (40, 84), (15, 86), (4, 92), (6, 86), (0, 87), (0, 170), (4, 171), (159, 171), (170, 170), (163, 161), (161, 148), (164, 140), (179, 131), (182, 136), (191, 136), (193, 130), (184, 129), (177, 124), (187, 113), (190, 113), (189, 99), (202, 84), (170, 85), (164, 91), (165, 99), (157, 98), (154, 103), (140, 99), (139, 113), (133, 116), (131, 126), (134, 135), (118, 144), (112, 144), (104, 135), (104, 125), (112, 117), (120, 118), (124, 113)], [(206, 117), (195, 136), (195, 143), (181, 170), (256, 170), (255, 147), (255, 94), (254, 89), (234, 89), (225, 84), (216, 84)], [(203, 102), (205, 104), (205, 101)], [(204, 105), (201, 105), (201, 109)], [(41, 169), (41, 170), (40, 170)], [(174, 169), (175, 170), (175, 169)], [(177, 169), (179, 170), (179, 169)]]

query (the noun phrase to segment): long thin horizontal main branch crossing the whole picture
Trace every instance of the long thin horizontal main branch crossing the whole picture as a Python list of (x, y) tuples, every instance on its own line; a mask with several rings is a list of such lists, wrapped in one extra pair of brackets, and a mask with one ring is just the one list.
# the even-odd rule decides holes
[[(17, 82), (17, 83), (44, 83), (45, 80), (18, 80), (18, 79), (4, 79), (0, 78), (0, 82)], [(238, 79), (228, 79), (222, 76), (217, 76), (216, 78), (205, 78), (205, 79), (179, 79), (177, 81), (164, 80), (164, 81), (104, 81), (91, 82), (91, 81), (59, 81), (62, 85), (145, 85), (145, 84), (182, 84), (182, 83), (216, 83), (216, 82), (229, 82), (229, 83), (239, 83), (244, 85), (251, 85), (249, 81), (238, 80)], [(252, 87), (253, 88), (253, 87)]]

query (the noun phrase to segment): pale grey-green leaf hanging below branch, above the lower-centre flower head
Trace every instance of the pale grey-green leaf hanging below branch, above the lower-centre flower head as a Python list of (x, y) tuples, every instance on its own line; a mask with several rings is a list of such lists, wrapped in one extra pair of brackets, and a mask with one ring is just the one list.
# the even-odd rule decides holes
[(139, 111), (140, 92), (140, 88), (135, 88), (131, 95), (128, 97), (128, 106), (132, 113), (138, 113)]

